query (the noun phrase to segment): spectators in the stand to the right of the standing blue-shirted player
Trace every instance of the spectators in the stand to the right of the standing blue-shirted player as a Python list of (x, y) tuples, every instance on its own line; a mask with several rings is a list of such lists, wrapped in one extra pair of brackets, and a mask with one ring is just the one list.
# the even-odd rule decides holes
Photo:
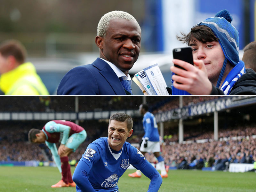
[(166, 145), (165, 163), (178, 169), (201, 169), (214, 166), (224, 170), (228, 163), (253, 163), (256, 156), (255, 138), (208, 141), (204, 143), (175, 143)]

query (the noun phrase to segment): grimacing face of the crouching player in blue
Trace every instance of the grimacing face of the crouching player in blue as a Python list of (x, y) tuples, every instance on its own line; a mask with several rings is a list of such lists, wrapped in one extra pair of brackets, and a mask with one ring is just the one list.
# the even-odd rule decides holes
[(133, 130), (128, 131), (126, 122), (111, 120), (108, 125), (108, 144), (109, 147), (119, 151), (124, 142), (132, 135)]

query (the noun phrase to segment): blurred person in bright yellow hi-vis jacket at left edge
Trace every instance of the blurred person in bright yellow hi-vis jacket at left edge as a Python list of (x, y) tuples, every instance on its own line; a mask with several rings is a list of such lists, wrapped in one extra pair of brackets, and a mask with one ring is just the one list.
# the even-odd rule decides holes
[(26, 60), (25, 47), (16, 40), (0, 44), (0, 89), (5, 95), (49, 95), (35, 66)]

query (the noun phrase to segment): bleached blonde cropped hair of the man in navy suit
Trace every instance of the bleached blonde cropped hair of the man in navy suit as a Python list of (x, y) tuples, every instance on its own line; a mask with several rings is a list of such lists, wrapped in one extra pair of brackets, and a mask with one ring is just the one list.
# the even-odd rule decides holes
[[(98, 28), (97, 28), (97, 35), (101, 36), (101, 37), (105, 37), (106, 36), (106, 32), (108, 30), (109, 27), (109, 21), (112, 19), (126, 19), (126, 20), (134, 20), (136, 21), (136, 23), (138, 23), (138, 21), (129, 13), (124, 12), (124, 11), (111, 11), (106, 13), (105, 15), (103, 15), (98, 23)], [(139, 23), (138, 23), (139, 25)], [(140, 27), (140, 25), (139, 25)], [(141, 29), (140, 29), (141, 31)]]

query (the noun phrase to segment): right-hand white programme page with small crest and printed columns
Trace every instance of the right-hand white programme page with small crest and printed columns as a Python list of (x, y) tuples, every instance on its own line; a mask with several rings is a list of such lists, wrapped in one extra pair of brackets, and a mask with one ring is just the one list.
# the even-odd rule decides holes
[(157, 63), (143, 70), (145, 71), (148, 80), (152, 84), (157, 95), (169, 95), (166, 89), (166, 82)]

